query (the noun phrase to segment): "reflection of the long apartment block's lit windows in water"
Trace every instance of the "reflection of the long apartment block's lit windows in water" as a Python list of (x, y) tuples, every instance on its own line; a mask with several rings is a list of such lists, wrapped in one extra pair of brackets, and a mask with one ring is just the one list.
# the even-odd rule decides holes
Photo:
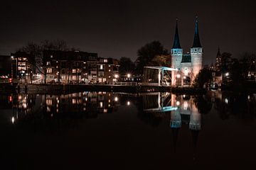
[(46, 113), (87, 113), (97, 117), (98, 113), (112, 113), (118, 96), (107, 92), (80, 92), (76, 94), (43, 95)]

